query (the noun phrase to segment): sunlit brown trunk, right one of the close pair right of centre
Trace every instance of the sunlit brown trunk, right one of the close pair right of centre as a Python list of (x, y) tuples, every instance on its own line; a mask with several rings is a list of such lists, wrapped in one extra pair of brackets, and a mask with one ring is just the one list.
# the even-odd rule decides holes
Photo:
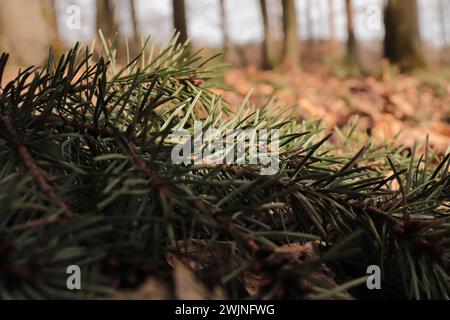
[(297, 34), (297, 13), (294, 0), (282, 0), (283, 5), (283, 64), (287, 68), (299, 67), (299, 39)]

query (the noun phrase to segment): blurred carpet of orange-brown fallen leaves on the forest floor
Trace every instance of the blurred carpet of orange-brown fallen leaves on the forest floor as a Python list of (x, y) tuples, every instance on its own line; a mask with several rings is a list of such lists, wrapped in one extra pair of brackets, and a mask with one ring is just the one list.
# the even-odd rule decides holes
[(379, 76), (339, 77), (333, 72), (280, 73), (255, 67), (226, 71), (231, 91), (220, 93), (233, 105), (253, 90), (251, 100), (264, 105), (272, 96), (290, 105), (298, 120), (320, 119), (325, 128), (345, 127), (358, 117), (358, 126), (375, 139), (412, 147), (424, 142), (439, 153), (450, 146), (450, 74), (424, 71), (398, 74), (385, 66)]

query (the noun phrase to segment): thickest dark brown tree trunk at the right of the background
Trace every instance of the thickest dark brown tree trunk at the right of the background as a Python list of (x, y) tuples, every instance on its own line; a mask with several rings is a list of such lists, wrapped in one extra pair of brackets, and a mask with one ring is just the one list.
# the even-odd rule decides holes
[(417, 0), (389, 0), (384, 15), (384, 55), (402, 71), (425, 66)]

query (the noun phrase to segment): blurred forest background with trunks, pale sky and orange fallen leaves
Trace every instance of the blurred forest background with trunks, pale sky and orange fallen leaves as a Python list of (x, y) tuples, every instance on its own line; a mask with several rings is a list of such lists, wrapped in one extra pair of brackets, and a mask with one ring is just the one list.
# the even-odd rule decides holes
[(90, 45), (98, 29), (122, 61), (127, 46), (162, 44), (173, 29), (205, 54), (223, 51), (232, 105), (253, 88), (255, 103), (276, 96), (299, 120), (332, 129), (358, 117), (376, 139), (412, 146), (428, 133), (449, 147), (450, 0), (0, 0), (7, 76), (50, 46)]

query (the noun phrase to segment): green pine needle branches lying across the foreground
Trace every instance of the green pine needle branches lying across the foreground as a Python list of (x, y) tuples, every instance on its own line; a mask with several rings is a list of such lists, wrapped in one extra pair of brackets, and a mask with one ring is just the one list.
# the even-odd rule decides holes
[[(171, 280), (167, 253), (204, 241), (196, 274), (230, 298), (247, 298), (245, 274), (262, 276), (255, 298), (449, 297), (450, 155), (367, 145), (354, 128), (330, 142), (269, 102), (236, 114), (211, 89), (219, 69), (173, 41), (117, 69), (103, 41), (3, 83), (0, 58), (0, 297), (97, 298)], [(155, 52), (155, 50), (150, 50)], [(177, 129), (278, 128), (280, 171), (260, 165), (175, 165)], [(339, 136), (338, 135), (338, 136)], [(342, 142), (342, 143), (341, 143)], [(350, 150), (349, 150), (350, 149)], [(286, 254), (313, 243), (320, 255)], [(223, 253), (223, 244), (230, 248)], [(83, 290), (66, 288), (66, 268)], [(365, 289), (382, 269), (381, 291)], [(337, 286), (316, 275), (332, 270)]]

